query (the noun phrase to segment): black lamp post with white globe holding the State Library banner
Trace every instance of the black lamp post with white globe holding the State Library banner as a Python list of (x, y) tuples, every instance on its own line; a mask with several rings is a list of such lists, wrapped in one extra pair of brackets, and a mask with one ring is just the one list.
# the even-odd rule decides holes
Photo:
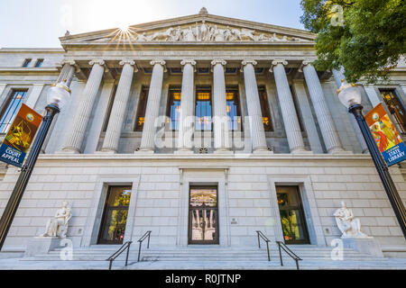
[(355, 116), (355, 120), (358, 123), (361, 132), (363, 133), (366, 146), (368, 147), (371, 157), (374, 160), (376, 170), (381, 177), (383, 187), (389, 198), (389, 202), (391, 202), (392, 209), (399, 221), (403, 236), (404, 238), (406, 238), (406, 211), (403, 202), (401, 202), (401, 197), (396, 190), (396, 186), (393, 183), (388, 166), (386, 165), (381, 152), (376, 146), (374, 137), (369, 130), (368, 124), (365, 121), (362, 112), (363, 106), (361, 105), (361, 93), (355, 84), (348, 84), (345, 80), (342, 81), (340, 88), (337, 90), (337, 93), (340, 102), (346, 106), (348, 112), (353, 113)]

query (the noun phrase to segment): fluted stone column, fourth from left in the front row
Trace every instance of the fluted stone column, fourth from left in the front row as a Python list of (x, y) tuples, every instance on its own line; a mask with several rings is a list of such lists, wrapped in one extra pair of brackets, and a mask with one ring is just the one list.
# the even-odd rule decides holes
[(192, 136), (195, 125), (194, 73), (196, 61), (185, 59), (183, 66), (182, 90), (180, 98), (180, 125), (177, 153), (193, 153)]

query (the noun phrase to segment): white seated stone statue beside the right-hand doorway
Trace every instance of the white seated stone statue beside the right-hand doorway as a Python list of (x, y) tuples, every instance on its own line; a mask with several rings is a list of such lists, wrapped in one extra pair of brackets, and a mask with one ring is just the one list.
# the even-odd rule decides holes
[(343, 235), (341, 238), (367, 238), (366, 234), (361, 232), (361, 222), (355, 218), (353, 211), (346, 208), (346, 202), (341, 202), (341, 208), (334, 212), (338, 229)]

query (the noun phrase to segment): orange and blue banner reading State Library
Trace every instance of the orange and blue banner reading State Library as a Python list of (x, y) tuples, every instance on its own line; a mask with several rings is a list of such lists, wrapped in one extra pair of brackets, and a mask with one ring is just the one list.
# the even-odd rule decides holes
[(377, 104), (373, 110), (368, 112), (365, 120), (388, 166), (406, 159), (406, 146), (383, 109), (382, 103)]

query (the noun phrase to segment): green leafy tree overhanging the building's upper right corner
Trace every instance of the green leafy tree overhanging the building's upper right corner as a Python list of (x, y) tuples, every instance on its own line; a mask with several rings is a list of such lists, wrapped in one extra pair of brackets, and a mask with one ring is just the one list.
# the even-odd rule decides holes
[(319, 70), (344, 67), (348, 82), (388, 79), (406, 54), (406, 1), (301, 0), (301, 23), (317, 33)]

